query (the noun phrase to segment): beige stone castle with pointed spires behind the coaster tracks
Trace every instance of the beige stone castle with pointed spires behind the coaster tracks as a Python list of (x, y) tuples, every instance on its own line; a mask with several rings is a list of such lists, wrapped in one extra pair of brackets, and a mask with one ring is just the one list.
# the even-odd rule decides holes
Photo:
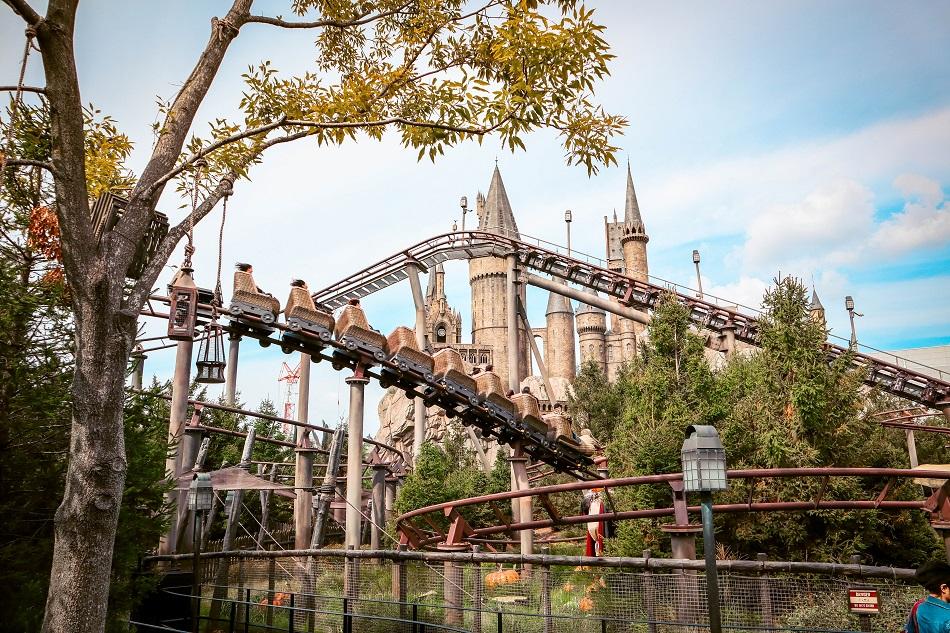
[[(518, 224), (502, 181), (501, 171), (495, 166), (488, 193), (476, 197), (478, 230), (519, 239)], [(646, 281), (648, 275), (646, 233), (640, 206), (633, 186), (630, 166), (627, 165), (627, 186), (624, 215), (618, 220), (616, 211), (612, 220), (604, 216), (607, 267), (636, 279)], [(492, 365), (502, 384), (509, 384), (508, 335), (506, 321), (506, 261), (500, 257), (478, 257), (469, 260), (469, 284), (472, 291), (472, 339), (462, 340), (461, 313), (449, 305), (445, 294), (445, 270), (437, 265), (430, 271), (425, 293), (426, 340), (433, 349), (455, 348), (470, 366)], [(519, 290), (521, 304), (525, 304), (525, 288)], [(580, 304), (575, 311), (570, 299), (551, 292), (545, 310), (544, 327), (530, 332), (522, 323), (518, 331), (518, 383), (538, 397), (542, 410), (550, 410), (557, 403), (565, 403), (577, 368), (590, 361), (596, 363), (608, 379), (613, 380), (624, 362), (637, 353), (637, 341), (643, 335), (643, 326), (629, 319), (611, 315), (600, 308)], [(547, 383), (553, 394), (548, 394), (545, 381), (531, 375), (531, 340), (542, 340), (543, 363)], [(579, 356), (578, 356), (579, 352)], [(390, 390), (379, 405), (381, 440), (394, 443), (403, 450), (411, 450), (412, 403), (401, 392)], [(426, 437), (442, 439), (445, 418), (435, 407), (428, 412)], [(475, 441), (475, 438), (470, 438)], [(483, 446), (486, 451), (491, 447)], [(493, 452), (493, 451), (492, 451)]]

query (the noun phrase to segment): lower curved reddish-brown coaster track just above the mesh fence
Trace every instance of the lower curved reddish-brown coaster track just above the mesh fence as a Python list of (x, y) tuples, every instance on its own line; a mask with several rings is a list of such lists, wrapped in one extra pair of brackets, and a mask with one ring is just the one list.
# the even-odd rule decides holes
[[(933, 479), (950, 480), (950, 470), (933, 470), (922, 473), (919, 470), (900, 468), (768, 468), (753, 470), (731, 470), (727, 476), (733, 487), (738, 487), (740, 481), (745, 482), (747, 491), (745, 502), (722, 503), (714, 506), (716, 513), (742, 512), (809, 512), (813, 510), (921, 510), (930, 514), (931, 525), (940, 531), (950, 530), (950, 481), (933, 492), (927, 499), (907, 500), (889, 498), (895, 492), (895, 484), (900, 480), (927, 477)], [(860, 477), (867, 481), (878, 479), (882, 481), (880, 491), (870, 499), (832, 499), (830, 490), (837, 487), (829, 486), (833, 478)], [(763, 480), (797, 478), (812, 480), (812, 496), (797, 500), (779, 501), (773, 498), (774, 493), (760, 491), (759, 483)], [(466, 542), (485, 542), (485, 538), (497, 534), (513, 535), (519, 530), (536, 530), (557, 526), (579, 525), (596, 521), (613, 521), (626, 519), (645, 519), (674, 517), (674, 523), (667, 526), (670, 532), (696, 531), (695, 525), (689, 523), (688, 514), (697, 514), (699, 506), (688, 506), (683, 494), (682, 473), (663, 475), (644, 475), (639, 477), (623, 477), (617, 479), (602, 479), (598, 481), (577, 481), (552, 486), (541, 486), (530, 490), (500, 492), (491, 495), (458, 499), (426, 506), (407, 512), (396, 518), (396, 526), (400, 532), (401, 542), (414, 549), (426, 549), (437, 544), (456, 545)], [(591, 488), (604, 488), (607, 491), (616, 490), (625, 486), (669, 486), (673, 493), (673, 505), (665, 508), (644, 508), (637, 510), (614, 509), (602, 514), (560, 515), (551, 497), (555, 494), (577, 493)], [(606, 493), (609, 496), (609, 492)], [(765, 497), (764, 499), (762, 497)], [(512, 499), (521, 497), (535, 497), (541, 503), (546, 518), (532, 517), (530, 521), (511, 521), (505, 515), (504, 508)], [(466, 508), (487, 504), (491, 507), (498, 520), (497, 525), (473, 526), (469, 525), (462, 512)], [(425, 527), (420, 527), (423, 523)], [(447, 527), (445, 527), (447, 525)]]

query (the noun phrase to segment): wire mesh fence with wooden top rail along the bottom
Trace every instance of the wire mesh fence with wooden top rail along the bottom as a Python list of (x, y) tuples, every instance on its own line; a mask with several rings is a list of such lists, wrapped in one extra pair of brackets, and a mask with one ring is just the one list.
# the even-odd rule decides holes
[[(409, 560), (399, 552), (387, 554), (395, 560), (342, 551), (266, 554), (203, 559), (201, 630), (699, 633), (708, 627), (705, 574), (696, 569), (578, 567), (558, 564), (559, 557), (516, 569)], [(879, 614), (849, 611), (854, 587), (877, 591)], [(897, 579), (732, 571), (719, 572), (719, 590), (727, 631), (894, 633), (921, 594)], [(170, 591), (187, 599), (191, 588)]]

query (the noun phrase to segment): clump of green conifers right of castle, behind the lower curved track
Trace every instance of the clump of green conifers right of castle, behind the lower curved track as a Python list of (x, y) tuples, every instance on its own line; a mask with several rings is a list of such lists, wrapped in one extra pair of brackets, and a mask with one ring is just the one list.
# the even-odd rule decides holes
[[(881, 427), (873, 413), (893, 399), (868, 392), (861, 376), (842, 357), (829, 363), (827, 332), (808, 312), (804, 286), (786, 277), (765, 295), (759, 319), (761, 347), (733, 356), (713, 372), (703, 339), (689, 327), (686, 308), (668, 297), (657, 307), (642, 345), (641, 357), (603, 385), (590, 371), (582, 374), (584, 403), (613, 414), (618, 422), (607, 446), (614, 476), (678, 472), (684, 429), (713, 424), (719, 430), (730, 468), (811, 466), (906, 467), (903, 437)], [(592, 385), (596, 385), (592, 388)], [(609, 421), (591, 416), (592, 425)], [(921, 438), (921, 459), (937, 458), (939, 443)], [(874, 498), (883, 485), (857, 478), (832, 478), (826, 498)], [(748, 486), (752, 486), (750, 490)], [(816, 480), (771, 479), (733, 482), (717, 495), (723, 503), (753, 500), (813, 499)], [(919, 498), (910, 483), (892, 496)], [(668, 507), (669, 489), (638, 486), (614, 495), (623, 508)], [(869, 560), (916, 565), (933, 555), (937, 540), (919, 512), (877, 510), (810, 511), (789, 520), (786, 513), (717, 515), (718, 539), (740, 556), (764, 552), (785, 560), (845, 560), (863, 554)], [(668, 541), (660, 521), (619, 525), (612, 553), (637, 555), (644, 548), (662, 552)]]

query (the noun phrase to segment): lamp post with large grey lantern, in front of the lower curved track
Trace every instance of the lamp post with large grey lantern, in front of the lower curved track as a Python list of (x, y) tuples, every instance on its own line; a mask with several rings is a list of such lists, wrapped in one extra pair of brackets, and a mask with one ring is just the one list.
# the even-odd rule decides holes
[(696, 424), (686, 428), (680, 451), (683, 490), (700, 493), (703, 515), (703, 554), (706, 558), (706, 602), (710, 633), (722, 633), (719, 614), (719, 576), (716, 572), (716, 532), (712, 522), (712, 493), (725, 490), (726, 451), (714, 426)]

